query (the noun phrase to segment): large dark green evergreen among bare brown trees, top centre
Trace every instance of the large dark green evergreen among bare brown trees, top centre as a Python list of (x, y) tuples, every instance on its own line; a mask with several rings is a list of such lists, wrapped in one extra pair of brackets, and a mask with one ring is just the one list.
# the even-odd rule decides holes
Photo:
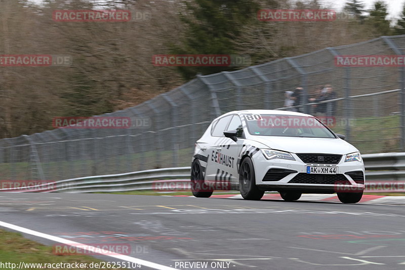
[[(233, 54), (234, 41), (240, 29), (250, 20), (257, 20), (259, 9), (254, 0), (194, 0), (185, 2), (183, 21), (187, 30), (180, 47), (173, 47), (175, 54)], [(211, 74), (232, 67), (179, 67), (185, 80), (195, 74)]]

